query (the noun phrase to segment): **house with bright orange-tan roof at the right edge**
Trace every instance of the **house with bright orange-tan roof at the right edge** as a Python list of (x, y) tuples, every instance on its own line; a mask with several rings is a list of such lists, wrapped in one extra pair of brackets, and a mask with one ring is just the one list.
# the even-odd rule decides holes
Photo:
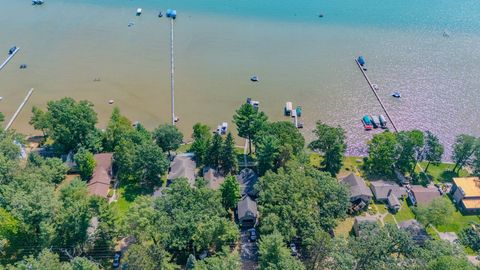
[(480, 213), (480, 178), (453, 178), (453, 199), (462, 212)]

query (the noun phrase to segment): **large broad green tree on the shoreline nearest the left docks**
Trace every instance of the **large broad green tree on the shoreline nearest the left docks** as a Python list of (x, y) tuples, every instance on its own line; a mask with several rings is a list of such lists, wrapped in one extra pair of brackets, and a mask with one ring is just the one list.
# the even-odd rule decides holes
[(53, 139), (61, 153), (75, 151), (81, 146), (88, 148), (97, 136), (97, 114), (93, 104), (85, 100), (49, 101), (46, 112), (35, 109), (31, 122)]

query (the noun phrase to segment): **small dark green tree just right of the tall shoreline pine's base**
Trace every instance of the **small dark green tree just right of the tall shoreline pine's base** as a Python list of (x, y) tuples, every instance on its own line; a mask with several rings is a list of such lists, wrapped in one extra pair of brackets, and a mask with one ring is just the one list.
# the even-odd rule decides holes
[(275, 171), (278, 166), (275, 163), (280, 155), (280, 142), (273, 136), (260, 137), (256, 142), (258, 172), (264, 175), (267, 171)]

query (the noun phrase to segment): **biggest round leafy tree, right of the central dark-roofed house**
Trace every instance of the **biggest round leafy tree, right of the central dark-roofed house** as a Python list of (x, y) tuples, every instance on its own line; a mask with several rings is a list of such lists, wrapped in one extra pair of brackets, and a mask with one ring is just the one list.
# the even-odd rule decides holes
[(262, 235), (278, 231), (286, 241), (334, 228), (350, 205), (348, 189), (330, 174), (295, 162), (267, 172), (255, 188)]

